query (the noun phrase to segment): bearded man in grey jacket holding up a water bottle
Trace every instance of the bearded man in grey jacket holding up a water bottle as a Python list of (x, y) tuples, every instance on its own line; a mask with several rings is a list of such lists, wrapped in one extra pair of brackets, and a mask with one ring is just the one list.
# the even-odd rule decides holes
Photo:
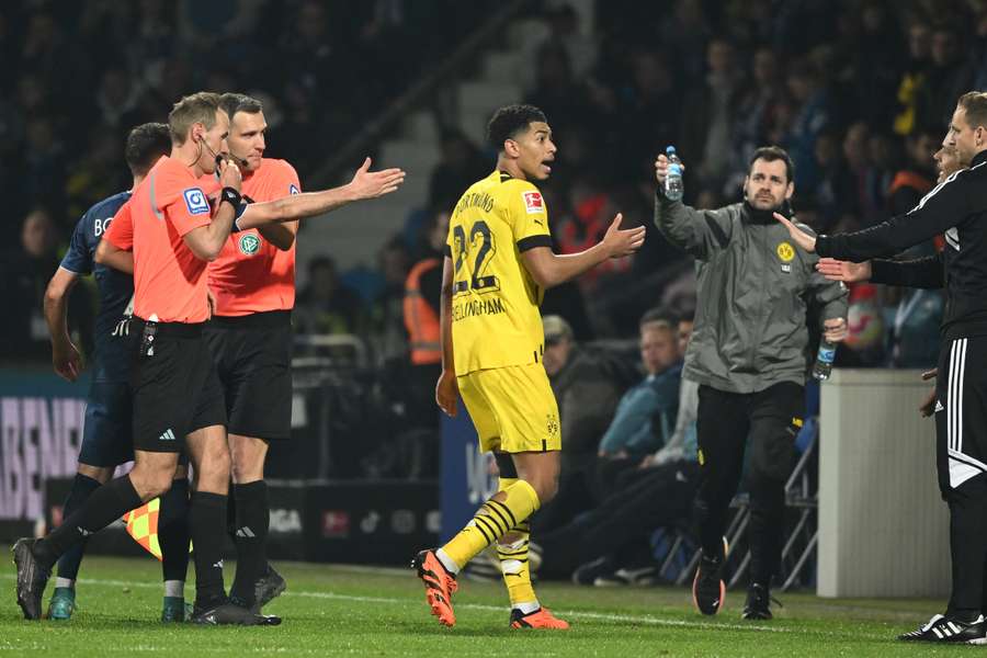
[(667, 168), (659, 156), (655, 224), (695, 258), (697, 279), (695, 326), (682, 375), (700, 385), (695, 522), (703, 558), (693, 598), (704, 614), (715, 614), (723, 602), (722, 537), (749, 435), (751, 566), (744, 617), (771, 619), (768, 588), (781, 558), (784, 484), (805, 409), (806, 310), (818, 303), (826, 337), (841, 341), (847, 288), (816, 272), (818, 259), (796, 248), (772, 217), (789, 207), (794, 192), (792, 160), (784, 150), (755, 151), (745, 201), (715, 211), (666, 198)]

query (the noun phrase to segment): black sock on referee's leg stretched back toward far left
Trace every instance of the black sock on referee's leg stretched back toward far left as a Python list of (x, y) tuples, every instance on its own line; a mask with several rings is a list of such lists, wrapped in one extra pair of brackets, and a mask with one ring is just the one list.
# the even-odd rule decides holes
[(50, 568), (66, 551), (140, 507), (140, 496), (128, 475), (110, 480), (97, 488), (61, 525), (34, 545), (35, 557)]

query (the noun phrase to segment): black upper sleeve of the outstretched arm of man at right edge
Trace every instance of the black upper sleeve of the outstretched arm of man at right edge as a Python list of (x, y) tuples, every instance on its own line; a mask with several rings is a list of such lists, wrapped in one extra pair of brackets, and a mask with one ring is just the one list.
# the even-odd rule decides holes
[(926, 194), (904, 215), (849, 234), (819, 236), (816, 253), (855, 263), (894, 256), (905, 249), (945, 232), (971, 212), (967, 186), (973, 181), (957, 171)]

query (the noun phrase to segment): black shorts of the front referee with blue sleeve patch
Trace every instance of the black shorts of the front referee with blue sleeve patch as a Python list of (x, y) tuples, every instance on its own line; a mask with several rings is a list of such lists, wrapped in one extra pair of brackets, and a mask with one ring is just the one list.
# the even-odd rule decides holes
[(203, 326), (132, 320), (135, 450), (181, 453), (186, 434), (226, 424), (223, 388)]

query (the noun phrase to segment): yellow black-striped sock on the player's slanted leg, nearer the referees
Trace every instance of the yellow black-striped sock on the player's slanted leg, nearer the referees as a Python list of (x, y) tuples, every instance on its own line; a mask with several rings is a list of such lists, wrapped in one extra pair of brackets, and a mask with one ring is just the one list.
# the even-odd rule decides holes
[[(526, 521), (540, 504), (538, 495), (531, 485), (522, 479), (511, 481), (480, 506), (466, 527), (440, 549), (440, 555), (444, 554), (462, 568), (480, 551)], [(527, 551), (526, 542), (524, 551)]]

